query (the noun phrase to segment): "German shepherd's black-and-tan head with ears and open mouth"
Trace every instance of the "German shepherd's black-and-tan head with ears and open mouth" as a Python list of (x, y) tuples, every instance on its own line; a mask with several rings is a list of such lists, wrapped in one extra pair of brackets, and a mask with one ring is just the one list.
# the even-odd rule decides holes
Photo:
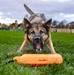
[(24, 18), (25, 33), (28, 40), (32, 43), (34, 49), (40, 52), (43, 48), (43, 43), (47, 41), (49, 37), (49, 30), (52, 19), (45, 23), (30, 23)]

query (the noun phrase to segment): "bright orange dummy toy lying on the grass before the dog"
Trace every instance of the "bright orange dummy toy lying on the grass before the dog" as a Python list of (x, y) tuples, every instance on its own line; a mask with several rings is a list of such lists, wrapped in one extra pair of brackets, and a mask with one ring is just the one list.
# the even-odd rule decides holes
[(32, 66), (61, 64), (63, 62), (60, 54), (24, 54), (14, 57), (13, 60), (20, 64), (30, 64)]

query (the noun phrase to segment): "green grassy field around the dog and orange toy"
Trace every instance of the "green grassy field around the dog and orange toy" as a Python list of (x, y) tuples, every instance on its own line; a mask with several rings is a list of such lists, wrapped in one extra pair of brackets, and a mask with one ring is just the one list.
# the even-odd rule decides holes
[[(63, 56), (64, 62), (60, 65), (45, 65), (32, 67), (16, 62), (5, 64), (16, 55), (24, 39), (23, 31), (0, 31), (0, 75), (74, 75), (74, 34), (52, 33), (54, 48)], [(30, 50), (25, 53), (36, 53), (29, 45)], [(42, 53), (49, 53), (46, 44)]]

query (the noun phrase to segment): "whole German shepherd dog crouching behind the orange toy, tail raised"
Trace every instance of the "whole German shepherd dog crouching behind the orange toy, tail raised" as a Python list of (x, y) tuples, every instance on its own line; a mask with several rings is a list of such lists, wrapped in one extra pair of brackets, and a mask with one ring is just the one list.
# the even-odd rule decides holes
[(24, 18), (25, 39), (18, 52), (23, 52), (29, 42), (32, 44), (36, 52), (41, 52), (45, 42), (50, 52), (55, 54), (56, 52), (54, 50), (50, 34), (52, 19), (46, 20), (44, 14), (35, 14), (25, 4), (24, 7), (29, 12), (30, 17), (28, 19)]

